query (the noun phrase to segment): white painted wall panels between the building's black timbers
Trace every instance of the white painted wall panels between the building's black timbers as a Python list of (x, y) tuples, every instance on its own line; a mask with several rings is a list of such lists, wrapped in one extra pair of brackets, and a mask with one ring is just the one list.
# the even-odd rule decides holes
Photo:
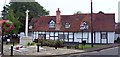
[[(42, 34), (45, 34), (45, 32), (34, 32), (34, 38), (38, 38), (38, 34), (39, 33), (42, 33)], [(46, 32), (46, 39), (52, 39), (54, 40), (54, 37), (49, 37), (49, 33), (50, 35), (53, 35), (54, 33), (53, 32)], [(59, 34), (63, 34), (63, 32), (59, 32)], [(67, 32), (64, 33), (64, 34), (68, 34)], [(72, 38), (73, 35), (72, 33), (70, 33), (71, 35), (69, 35), (69, 38)], [(55, 35), (58, 35), (58, 32), (55, 33)], [(120, 36), (120, 34), (119, 34)], [(83, 32), (83, 38), (87, 38), (88, 37), (88, 42), (87, 43), (91, 43), (91, 32)], [(93, 36), (93, 41), (95, 40), (95, 43), (100, 43), (100, 39), (101, 39), (101, 34), (100, 32), (95, 32), (95, 37), (96, 39), (94, 39), (94, 36)], [(80, 38), (80, 39), (78, 39)], [(108, 43), (114, 43), (114, 38), (115, 38), (115, 32), (108, 32)], [(57, 40), (58, 37), (55, 38), (55, 40)], [(81, 41), (82, 39), (82, 32), (77, 32), (74, 34), (74, 42), (82, 42)], [(83, 39), (83, 40), (86, 40), (87, 39)], [(68, 39), (65, 39), (65, 41), (68, 41)], [(72, 42), (72, 39), (69, 40), (70, 42)], [(102, 40), (102, 43), (106, 43), (106, 39), (103, 39)]]

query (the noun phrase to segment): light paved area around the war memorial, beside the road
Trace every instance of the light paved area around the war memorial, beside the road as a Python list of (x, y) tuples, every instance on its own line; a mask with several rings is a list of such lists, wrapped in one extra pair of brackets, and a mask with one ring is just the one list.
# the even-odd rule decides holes
[[(109, 48), (114, 48), (118, 47), (120, 44), (108, 44), (108, 45), (103, 45), (100, 47), (93, 47), (85, 50), (77, 50), (77, 49), (67, 49), (67, 48), (58, 48), (55, 49), (54, 47), (40, 47), (40, 52), (37, 52), (37, 47), (36, 46), (29, 46), (25, 47), (20, 50), (14, 50), (14, 56), (20, 55), (21, 57), (23, 55), (31, 55), (31, 56), (44, 56), (44, 57), (53, 57), (53, 56), (66, 56), (66, 55), (71, 55), (71, 54), (80, 54), (80, 53), (86, 53), (86, 52), (93, 52), (93, 51), (101, 51), (104, 49), (109, 49)], [(10, 45), (4, 45), (4, 55), (8, 57), (10, 55)]]

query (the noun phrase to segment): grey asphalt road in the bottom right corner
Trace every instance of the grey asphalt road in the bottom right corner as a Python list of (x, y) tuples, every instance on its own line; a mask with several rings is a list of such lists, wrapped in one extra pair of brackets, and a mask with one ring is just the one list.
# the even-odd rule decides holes
[(71, 54), (64, 57), (120, 57), (120, 47), (109, 48), (101, 51)]

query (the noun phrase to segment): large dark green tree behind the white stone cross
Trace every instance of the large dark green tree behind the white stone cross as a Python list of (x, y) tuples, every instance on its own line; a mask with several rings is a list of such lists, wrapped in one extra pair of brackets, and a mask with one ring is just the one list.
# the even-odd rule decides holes
[[(26, 19), (25, 11), (27, 9), (30, 11), (29, 21), (33, 17), (49, 15), (49, 11), (44, 9), (44, 7), (41, 6), (38, 2), (10, 2), (10, 6), (7, 7), (8, 7), (8, 11), (12, 10), (14, 18), (20, 21), (20, 23), (22, 24), (20, 25), (21, 32), (24, 32), (25, 30), (25, 19)], [(10, 12), (8, 12), (8, 14), (10, 14)]]

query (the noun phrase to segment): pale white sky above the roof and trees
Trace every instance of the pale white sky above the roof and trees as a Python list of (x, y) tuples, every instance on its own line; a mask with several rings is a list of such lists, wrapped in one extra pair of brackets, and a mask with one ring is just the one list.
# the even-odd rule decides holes
[[(118, 22), (118, 1), (120, 0), (92, 0), (93, 12), (115, 13), (115, 21)], [(0, 11), (10, 0), (0, 1)], [(44, 9), (50, 11), (50, 16), (56, 15), (57, 8), (60, 8), (61, 15), (73, 15), (77, 11), (90, 13), (90, 0), (36, 0)]]

